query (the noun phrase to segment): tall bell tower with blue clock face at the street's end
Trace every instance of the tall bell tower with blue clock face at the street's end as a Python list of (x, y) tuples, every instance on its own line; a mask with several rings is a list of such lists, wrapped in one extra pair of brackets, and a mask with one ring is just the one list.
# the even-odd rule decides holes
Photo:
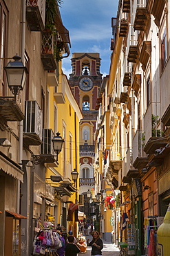
[[(96, 101), (102, 82), (99, 53), (73, 53), (70, 86), (83, 113), (80, 122), (80, 194), (87, 199), (87, 190), (94, 188), (94, 131), (98, 110)], [(82, 209), (89, 215), (89, 205)]]

